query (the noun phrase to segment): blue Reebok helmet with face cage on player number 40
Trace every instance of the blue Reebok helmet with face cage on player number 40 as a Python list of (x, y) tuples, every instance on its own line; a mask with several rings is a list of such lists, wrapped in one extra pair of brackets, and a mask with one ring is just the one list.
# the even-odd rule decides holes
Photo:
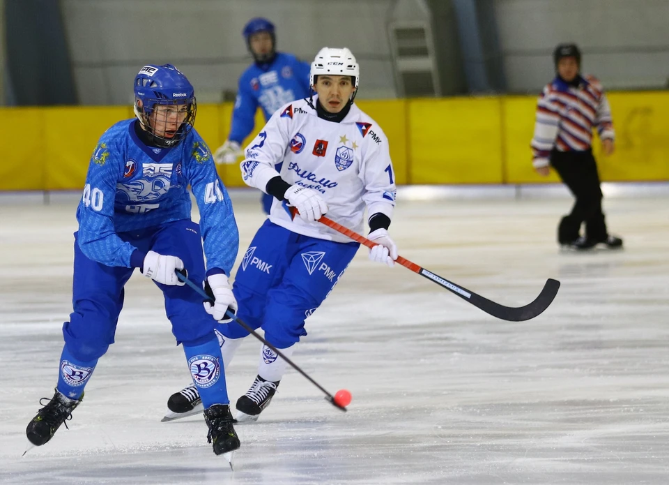
[[(167, 122), (167, 111), (156, 109), (156, 105), (180, 105), (176, 130), (165, 126), (162, 134), (155, 133), (156, 121)], [(185, 75), (171, 64), (156, 66), (147, 64), (134, 78), (134, 114), (142, 128), (151, 135), (151, 141), (162, 147), (174, 147), (192, 130), (195, 122), (195, 91)], [(160, 119), (162, 113), (162, 119)]]

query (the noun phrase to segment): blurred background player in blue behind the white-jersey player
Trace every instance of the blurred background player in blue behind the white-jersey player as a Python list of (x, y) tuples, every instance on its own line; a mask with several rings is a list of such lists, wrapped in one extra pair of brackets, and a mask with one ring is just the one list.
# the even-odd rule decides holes
[[(279, 107), (309, 96), (309, 64), (291, 54), (276, 52), (274, 24), (254, 18), (244, 27), (246, 43), (254, 58), (239, 78), (230, 134), (214, 154), (216, 163), (235, 163), (241, 144), (253, 131), (256, 110), (260, 106), (268, 121)], [(277, 166), (281, 170), (281, 165)], [(272, 195), (263, 194), (263, 210), (269, 214)]]

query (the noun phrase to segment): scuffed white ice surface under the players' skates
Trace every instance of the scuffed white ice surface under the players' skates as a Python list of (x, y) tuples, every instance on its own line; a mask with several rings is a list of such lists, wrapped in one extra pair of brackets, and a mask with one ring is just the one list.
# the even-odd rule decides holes
[[(243, 255), (263, 217), (239, 197)], [(560, 253), (570, 201), (403, 202), (401, 255), (502, 304), (562, 288), (535, 320), (495, 320), (360, 250), (307, 320), (293, 359), (348, 413), (289, 371), (256, 424), (238, 426), (236, 471), (200, 417), (161, 423), (188, 382), (157, 289), (134, 275), (116, 343), (84, 403), (21, 457), (52, 396), (71, 311), (76, 202), (0, 205), (0, 483), (666, 484), (669, 482), (669, 198), (607, 200), (624, 251)], [(226, 371), (231, 400), (256, 374), (248, 338)]]

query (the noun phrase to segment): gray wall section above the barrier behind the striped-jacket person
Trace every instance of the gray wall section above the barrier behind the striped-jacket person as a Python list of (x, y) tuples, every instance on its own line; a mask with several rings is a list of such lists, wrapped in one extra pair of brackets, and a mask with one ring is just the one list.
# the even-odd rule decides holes
[(669, 0), (495, 0), (507, 89), (536, 92), (554, 75), (560, 42), (606, 89), (666, 87)]

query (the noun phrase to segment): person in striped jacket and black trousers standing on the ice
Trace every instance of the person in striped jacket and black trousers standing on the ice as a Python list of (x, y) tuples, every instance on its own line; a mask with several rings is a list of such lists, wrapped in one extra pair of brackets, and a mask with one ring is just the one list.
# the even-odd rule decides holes
[(597, 79), (580, 75), (580, 50), (575, 44), (558, 45), (553, 61), (557, 75), (537, 103), (532, 165), (543, 176), (553, 167), (576, 197), (571, 214), (557, 227), (557, 241), (574, 249), (597, 244), (620, 248), (622, 239), (606, 230), (597, 162), (592, 156), (592, 128), (597, 128), (604, 154), (613, 154), (615, 133), (606, 94)]

